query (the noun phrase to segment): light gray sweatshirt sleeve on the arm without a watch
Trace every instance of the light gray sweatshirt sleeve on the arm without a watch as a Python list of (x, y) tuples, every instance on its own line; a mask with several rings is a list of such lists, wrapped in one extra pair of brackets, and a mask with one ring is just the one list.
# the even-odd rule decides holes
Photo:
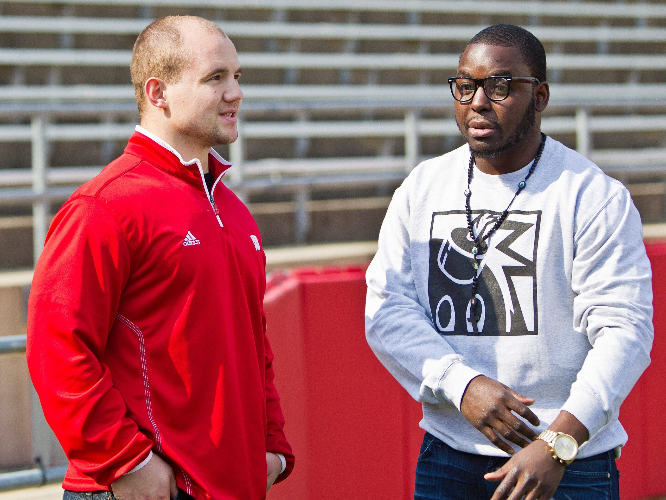
[(396, 189), (368, 271), (366, 339), (407, 391), (422, 403), (448, 402), (460, 409), (465, 389), (482, 373), (440, 335), (420, 303), (412, 278), (408, 186)]

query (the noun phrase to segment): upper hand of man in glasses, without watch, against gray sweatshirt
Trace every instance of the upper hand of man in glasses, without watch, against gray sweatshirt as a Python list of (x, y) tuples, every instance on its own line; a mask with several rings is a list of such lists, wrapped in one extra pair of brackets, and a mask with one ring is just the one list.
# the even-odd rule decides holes
[[(529, 445), (538, 434), (515, 417), (515, 411), (532, 425), (539, 425), (539, 418), (527, 408), (534, 400), (523, 397), (504, 384), (479, 375), (472, 379), (460, 403), (460, 411), (488, 440), (499, 449), (513, 455), (513, 448), (500, 436), (521, 448)], [(520, 433), (521, 435), (517, 434)]]

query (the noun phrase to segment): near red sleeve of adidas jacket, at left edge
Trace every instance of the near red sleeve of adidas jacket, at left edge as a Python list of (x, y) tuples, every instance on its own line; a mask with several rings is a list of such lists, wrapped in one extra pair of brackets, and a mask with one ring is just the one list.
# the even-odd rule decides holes
[(71, 466), (99, 485), (153, 447), (99, 361), (129, 269), (109, 209), (93, 197), (71, 199), (51, 223), (28, 303), (27, 360), (44, 415)]

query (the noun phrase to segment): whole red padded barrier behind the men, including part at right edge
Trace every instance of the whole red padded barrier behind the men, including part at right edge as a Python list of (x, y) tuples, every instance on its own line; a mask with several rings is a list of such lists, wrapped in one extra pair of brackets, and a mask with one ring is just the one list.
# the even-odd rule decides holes
[[(655, 304), (666, 302), (666, 243), (648, 245)], [(410, 500), (421, 407), (365, 340), (364, 267), (298, 269), (269, 281), (264, 301), (276, 386), (296, 467), (268, 500)], [(666, 308), (655, 311), (652, 364), (622, 405), (629, 444), (623, 500), (666, 494)]]

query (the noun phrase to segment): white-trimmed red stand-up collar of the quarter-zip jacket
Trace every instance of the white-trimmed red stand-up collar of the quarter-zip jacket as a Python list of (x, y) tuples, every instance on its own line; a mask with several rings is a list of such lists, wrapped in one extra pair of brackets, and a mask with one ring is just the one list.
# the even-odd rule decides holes
[[(137, 125), (135, 133), (129, 138), (125, 153), (145, 158), (155, 166), (168, 173), (180, 177), (206, 191), (206, 197), (210, 197), (206, 183), (203, 181), (203, 169), (198, 158), (184, 161), (180, 153), (168, 143), (147, 131), (141, 125)], [(222, 158), (217, 151), (210, 148), (208, 151), (208, 171), (216, 179), (226, 173), (234, 164)]]

